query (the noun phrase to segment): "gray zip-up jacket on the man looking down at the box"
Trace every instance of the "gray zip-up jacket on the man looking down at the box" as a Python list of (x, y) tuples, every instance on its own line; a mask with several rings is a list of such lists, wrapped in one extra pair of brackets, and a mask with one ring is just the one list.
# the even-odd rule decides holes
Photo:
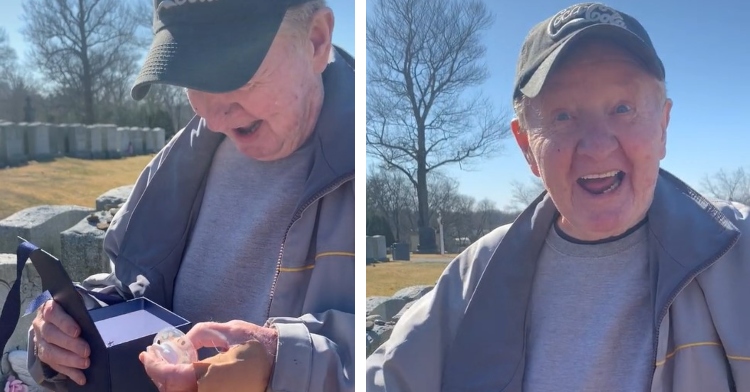
[[(279, 244), (267, 310), (267, 325), (279, 334), (273, 391), (354, 390), (354, 59), (337, 52), (323, 83), (309, 141), (313, 165)], [(105, 235), (115, 272), (91, 276), (84, 287), (172, 308), (175, 278), (223, 138), (194, 118), (154, 157)], [(30, 355), (29, 362), (40, 379), (39, 361)]]

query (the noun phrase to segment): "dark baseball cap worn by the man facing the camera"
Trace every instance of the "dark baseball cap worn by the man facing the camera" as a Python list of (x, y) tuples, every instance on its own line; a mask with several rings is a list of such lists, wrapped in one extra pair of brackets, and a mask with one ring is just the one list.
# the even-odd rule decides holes
[(606, 38), (636, 55), (659, 80), (664, 64), (646, 29), (632, 16), (601, 3), (581, 3), (559, 11), (534, 26), (516, 66), (513, 98), (536, 97), (558, 59), (584, 37)]

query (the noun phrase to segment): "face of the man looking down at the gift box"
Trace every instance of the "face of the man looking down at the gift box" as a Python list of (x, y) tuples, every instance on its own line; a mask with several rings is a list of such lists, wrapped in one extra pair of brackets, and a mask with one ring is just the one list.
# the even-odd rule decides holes
[(222, 94), (188, 90), (193, 110), (210, 130), (225, 134), (250, 158), (272, 161), (289, 156), (315, 128), (332, 30), (333, 16), (323, 10), (307, 37), (277, 34), (245, 86)]

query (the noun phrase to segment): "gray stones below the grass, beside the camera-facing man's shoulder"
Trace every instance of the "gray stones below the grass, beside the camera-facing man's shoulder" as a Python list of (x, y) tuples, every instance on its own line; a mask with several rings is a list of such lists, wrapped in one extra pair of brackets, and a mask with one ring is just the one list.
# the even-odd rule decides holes
[(385, 343), (393, 327), (414, 303), (434, 286), (410, 286), (392, 297), (367, 297), (367, 356)]

